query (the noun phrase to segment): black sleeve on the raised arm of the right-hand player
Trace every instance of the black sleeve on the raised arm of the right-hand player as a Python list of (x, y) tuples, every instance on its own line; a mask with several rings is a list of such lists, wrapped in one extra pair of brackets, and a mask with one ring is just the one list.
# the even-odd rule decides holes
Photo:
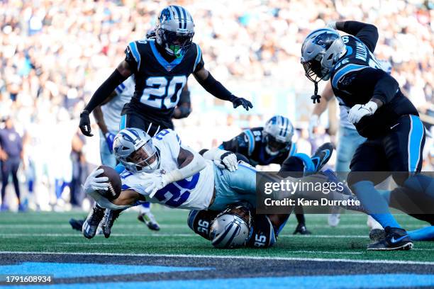
[(374, 52), (378, 41), (377, 27), (357, 21), (345, 21), (337, 24), (336, 28), (359, 38), (371, 52)]

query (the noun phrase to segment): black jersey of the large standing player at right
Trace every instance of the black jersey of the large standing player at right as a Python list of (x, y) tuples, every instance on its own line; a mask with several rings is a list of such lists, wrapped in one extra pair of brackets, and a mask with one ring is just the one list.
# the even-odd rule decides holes
[[(379, 79), (391, 77), (386, 75), (373, 55), (376, 40), (372, 43), (367, 35), (362, 39), (345, 35), (342, 39), (347, 52), (335, 65), (330, 81), (340, 105), (350, 110), (356, 104), (365, 104), (371, 100)], [(394, 96), (391, 100), (384, 103), (374, 115), (365, 116), (355, 125), (360, 135), (379, 137), (386, 134), (401, 115), (418, 115), (399, 86), (396, 86), (396, 92), (392, 94)]]

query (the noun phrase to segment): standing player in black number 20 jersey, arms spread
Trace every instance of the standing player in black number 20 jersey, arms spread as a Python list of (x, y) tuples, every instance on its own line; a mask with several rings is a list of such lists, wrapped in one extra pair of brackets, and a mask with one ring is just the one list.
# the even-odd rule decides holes
[[(155, 39), (152, 39), (154, 38)], [(230, 101), (233, 107), (243, 106), (247, 111), (252, 103), (245, 98), (238, 98), (228, 91), (204, 68), (204, 60), (199, 45), (192, 42), (194, 22), (190, 13), (182, 6), (167, 6), (157, 18), (154, 33), (148, 33), (147, 39), (133, 41), (126, 47), (126, 57), (111, 76), (104, 81), (92, 96), (84, 111), (80, 114), (79, 128), (84, 135), (91, 134), (89, 113), (131, 75), (135, 78), (135, 92), (129, 103), (123, 107), (120, 129), (140, 128), (153, 136), (158, 131), (173, 128), (174, 108), (179, 103), (179, 96), (187, 84), (187, 78), (193, 74), (201, 86), (217, 98)], [(121, 172), (122, 167), (116, 166)], [(87, 217), (89, 237), (93, 237), (96, 226), (104, 215), (104, 209), (94, 207)], [(110, 229), (118, 212), (111, 212), (106, 220)], [(110, 231), (110, 230), (109, 230)], [(108, 231), (108, 232), (109, 232)], [(106, 236), (108, 236), (106, 234)]]

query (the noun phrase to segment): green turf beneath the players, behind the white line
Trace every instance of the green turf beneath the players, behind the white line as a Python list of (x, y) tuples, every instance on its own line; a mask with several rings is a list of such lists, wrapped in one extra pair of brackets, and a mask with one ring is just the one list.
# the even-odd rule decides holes
[[(160, 232), (151, 232), (138, 222), (136, 212), (125, 212), (113, 226), (109, 239), (99, 235), (88, 240), (68, 224), (70, 217), (81, 218), (84, 212), (1, 212), (0, 251), (195, 254), (295, 257), (306, 259), (366, 259), (434, 261), (434, 242), (416, 242), (411, 251), (366, 251), (369, 243), (366, 216), (342, 215), (338, 227), (327, 225), (327, 215), (306, 215), (311, 236), (293, 236), (295, 218), (269, 249), (213, 249), (210, 242), (194, 234), (187, 226), (187, 210), (153, 210), (160, 222)], [(406, 229), (426, 225), (406, 215), (397, 219)]]

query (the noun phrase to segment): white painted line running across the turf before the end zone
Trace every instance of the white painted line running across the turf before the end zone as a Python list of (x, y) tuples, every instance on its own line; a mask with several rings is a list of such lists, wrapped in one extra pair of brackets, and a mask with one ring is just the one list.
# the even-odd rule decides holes
[(404, 260), (352, 260), (352, 259), (325, 259), (325, 258), (297, 258), (297, 257), (269, 257), (269, 256), (238, 256), (238, 255), (199, 255), (199, 254), (119, 254), (119, 253), (61, 253), (61, 252), (37, 252), (37, 251), (0, 251), (0, 254), (30, 254), (30, 255), (84, 255), (84, 256), (133, 256), (133, 257), (177, 257), (177, 258), (207, 258), (207, 259), (250, 259), (250, 260), (279, 260), (279, 261), (317, 261), (317, 262), (347, 262), (347, 263), (387, 263), (387, 264), (411, 264), (434, 265), (428, 261), (404, 261)]

